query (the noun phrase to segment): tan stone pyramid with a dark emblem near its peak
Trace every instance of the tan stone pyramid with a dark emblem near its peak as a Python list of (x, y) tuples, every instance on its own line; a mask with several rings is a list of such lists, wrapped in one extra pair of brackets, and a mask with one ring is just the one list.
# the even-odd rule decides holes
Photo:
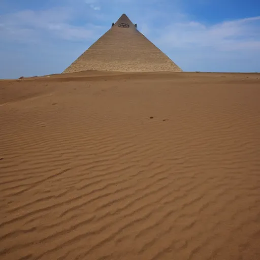
[(133, 24), (125, 14), (63, 73), (87, 70), (182, 71), (168, 56), (142, 35), (137, 29), (137, 24)]

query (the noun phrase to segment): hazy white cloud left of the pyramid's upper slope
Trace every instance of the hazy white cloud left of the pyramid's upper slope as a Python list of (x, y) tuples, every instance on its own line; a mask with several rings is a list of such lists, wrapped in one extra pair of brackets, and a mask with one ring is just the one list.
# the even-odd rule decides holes
[(6, 40), (39, 42), (43, 38), (70, 41), (94, 40), (104, 31), (92, 23), (74, 24), (74, 13), (67, 8), (42, 11), (24, 10), (0, 16), (0, 33)]

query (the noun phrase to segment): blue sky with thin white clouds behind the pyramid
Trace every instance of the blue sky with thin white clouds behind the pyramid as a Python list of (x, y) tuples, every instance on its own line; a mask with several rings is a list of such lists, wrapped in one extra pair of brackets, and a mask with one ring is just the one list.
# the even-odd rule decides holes
[(61, 73), (123, 13), (183, 71), (260, 72), (259, 0), (0, 0), (0, 78)]

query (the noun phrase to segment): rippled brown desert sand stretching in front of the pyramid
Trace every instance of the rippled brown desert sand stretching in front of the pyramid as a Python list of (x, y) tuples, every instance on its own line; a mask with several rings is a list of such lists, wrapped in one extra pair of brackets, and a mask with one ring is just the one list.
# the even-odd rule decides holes
[(260, 74), (0, 81), (0, 258), (259, 260), (259, 97)]

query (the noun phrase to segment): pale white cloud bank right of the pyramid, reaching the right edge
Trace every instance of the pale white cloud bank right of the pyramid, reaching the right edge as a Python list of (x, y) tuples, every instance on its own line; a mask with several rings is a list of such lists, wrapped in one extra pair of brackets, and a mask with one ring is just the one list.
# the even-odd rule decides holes
[(156, 42), (167, 48), (210, 47), (218, 51), (260, 50), (260, 16), (206, 25), (182, 21), (157, 28)]

